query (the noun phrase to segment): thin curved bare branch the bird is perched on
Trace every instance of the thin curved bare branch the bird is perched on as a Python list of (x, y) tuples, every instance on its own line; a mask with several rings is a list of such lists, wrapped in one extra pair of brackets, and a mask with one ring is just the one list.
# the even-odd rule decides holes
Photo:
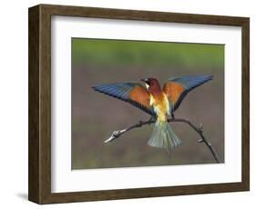
[[(205, 136), (203, 134), (203, 126), (202, 126), (202, 124), (200, 124), (200, 127), (197, 127), (196, 125), (192, 124), (189, 120), (182, 119), (182, 118), (169, 119), (168, 122), (179, 122), (179, 123), (189, 124), (189, 126), (192, 129), (194, 129), (198, 134), (200, 134), (199, 143), (206, 144), (207, 147), (210, 149), (210, 153), (214, 157), (216, 163), (218, 163), (218, 164), (220, 163), (220, 159), (219, 159), (218, 154), (216, 154), (214, 148), (212, 147), (210, 142), (208, 142), (208, 140), (205, 138)], [(111, 134), (111, 136), (104, 143), (110, 143), (110, 142), (114, 141), (115, 139), (117, 139), (122, 134), (125, 134), (125, 133), (127, 133), (128, 131), (130, 131), (130, 130), (132, 130), (134, 128), (139, 128), (139, 127), (142, 127), (145, 124), (154, 124), (154, 123), (156, 123), (156, 120), (152, 120), (152, 119), (149, 119), (148, 121), (139, 121), (138, 124), (133, 124), (133, 125), (129, 126), (128, 128), (114, 131)]]

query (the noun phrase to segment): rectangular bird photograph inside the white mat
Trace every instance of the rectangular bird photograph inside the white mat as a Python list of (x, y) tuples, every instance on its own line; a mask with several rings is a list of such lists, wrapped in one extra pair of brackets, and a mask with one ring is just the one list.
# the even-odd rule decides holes
[(225, 45), (71, 45), (72, 170), (225, 162)]

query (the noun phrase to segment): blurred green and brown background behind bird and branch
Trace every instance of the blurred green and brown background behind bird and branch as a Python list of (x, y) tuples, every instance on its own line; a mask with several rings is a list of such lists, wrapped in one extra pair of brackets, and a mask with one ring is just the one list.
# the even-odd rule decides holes
[(214, 75), (186, 96), (175, 115), (203, 124), (224, 162), (224, 45), (72, 38), (72, 169), (215, 163), (187, 124), (171, 124), (183, 142), (171, 154), (148, 146), (153, 124), (104, 144), (113, 131), (149, 115), (91, 86), (147, 77), (162, 85), (179, 75)]

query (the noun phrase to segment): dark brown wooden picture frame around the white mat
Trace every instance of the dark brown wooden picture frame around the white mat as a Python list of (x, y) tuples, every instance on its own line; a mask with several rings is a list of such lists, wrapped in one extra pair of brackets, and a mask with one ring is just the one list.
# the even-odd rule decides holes
[[(241, 26), (242, 145), (241, 182), (196, 184), (89, 192), (51, 192), (51, 16), (66, 15), (200, 25)], [(209, 194), (250, 189), (250, 19), (67, 5), (29, 8), (29, 143), (28, 199), (37, 204), (98, 201), (180, 194)]]

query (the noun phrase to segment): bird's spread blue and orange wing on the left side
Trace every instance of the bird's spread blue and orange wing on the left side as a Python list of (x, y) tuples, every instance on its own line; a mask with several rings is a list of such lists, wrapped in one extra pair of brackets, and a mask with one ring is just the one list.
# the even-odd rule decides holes
[(95, 91), (110, 95), (129, 104), (133, 104), (148, 114), (154, 114), (149, 104), (147, 89), (138, 83), (115, 83), (92, 87)]

